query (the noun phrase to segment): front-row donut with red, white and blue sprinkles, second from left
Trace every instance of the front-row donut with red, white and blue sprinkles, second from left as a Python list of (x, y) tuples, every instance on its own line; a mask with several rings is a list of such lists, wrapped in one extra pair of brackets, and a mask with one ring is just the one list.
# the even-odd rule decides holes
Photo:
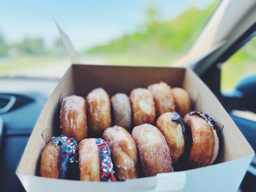
[(78, 145), (80, 180), (115, 181), (110, 147), (103, 139), (84, 139)]

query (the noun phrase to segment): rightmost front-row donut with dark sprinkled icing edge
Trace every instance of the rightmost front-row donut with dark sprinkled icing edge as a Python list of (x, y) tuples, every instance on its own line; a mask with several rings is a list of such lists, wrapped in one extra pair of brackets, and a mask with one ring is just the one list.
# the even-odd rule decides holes
[(184, 121), (192, 133), (188, 163), (194, 168), (212, 165), (219, 152), (219, 138), (214, 120), (207, 114), (192, 111), (185, 115)]

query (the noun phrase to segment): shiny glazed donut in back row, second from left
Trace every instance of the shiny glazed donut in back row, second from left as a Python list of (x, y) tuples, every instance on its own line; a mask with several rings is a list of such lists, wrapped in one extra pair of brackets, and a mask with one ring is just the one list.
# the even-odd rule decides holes
[(101, 135), (111, 126), (110, 97), (102, 88), (93, 89), (86, 98), (89, 131)]

